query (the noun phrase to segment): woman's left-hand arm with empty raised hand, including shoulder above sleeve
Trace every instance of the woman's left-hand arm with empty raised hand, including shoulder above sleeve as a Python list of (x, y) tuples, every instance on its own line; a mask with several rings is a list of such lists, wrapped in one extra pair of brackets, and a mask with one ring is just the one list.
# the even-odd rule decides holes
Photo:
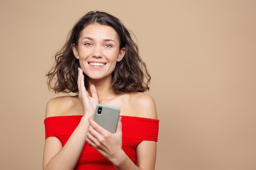
[[(85, 144), (86, 132), (88, 131), (88, 117), (94, 114), (95, 106), (98, 103), (97, 91), (94, 86), (90, 90), (92, 97), (89, 96), (84, 86), (83, 72), (79, 69), (78, 77), (79, 98), (83, 105), (84, 115), (79, 125), (76, 127), (65, 146), (62, 147), (61, 141), (56, 137), (48, 137), (45, 140), (45, 148), (43, 154), (44, 170), (73, 170), (81, 155)], [(59, 102), (50, 100), (46, 107), (46, 117), (52, 116), (54, 112), (58, 112)], [(55, 109), (57, 108), (57, 109)]]

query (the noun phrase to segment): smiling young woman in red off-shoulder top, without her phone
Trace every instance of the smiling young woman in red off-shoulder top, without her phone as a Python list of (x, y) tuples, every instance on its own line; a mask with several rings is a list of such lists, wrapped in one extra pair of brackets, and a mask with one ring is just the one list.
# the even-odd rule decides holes
[[(47, 76), (56, 93), (78, 95), (47, 103), (44, 170), (155, 169), (159, 120), (153, 98), (144, 93), (150, 75), (117, 18), (84, 15)], [(114, 134), (93, 121), (99, 103), (121, 110)]]

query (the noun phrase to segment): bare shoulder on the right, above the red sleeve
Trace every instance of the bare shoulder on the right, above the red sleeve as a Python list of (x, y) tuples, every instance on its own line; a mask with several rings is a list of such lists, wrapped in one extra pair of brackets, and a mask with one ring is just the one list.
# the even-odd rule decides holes
[(146, 93), (135, 93), (130, 96), (132, 106), (136, 109), (138, 117), (157, 119), (155, 100)]

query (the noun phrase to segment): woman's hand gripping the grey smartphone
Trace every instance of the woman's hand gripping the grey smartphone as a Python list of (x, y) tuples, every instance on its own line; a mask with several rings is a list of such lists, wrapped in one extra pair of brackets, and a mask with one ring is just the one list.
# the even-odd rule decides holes
[(122, 150), (122, 122), (119, 117), (117, 131), (112, 134), (89, 118), (86, 141), (111, 162), (117, 161)]

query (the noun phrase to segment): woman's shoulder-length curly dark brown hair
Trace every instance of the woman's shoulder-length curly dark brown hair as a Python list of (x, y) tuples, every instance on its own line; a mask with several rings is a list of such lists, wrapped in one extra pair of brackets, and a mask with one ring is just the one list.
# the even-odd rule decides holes
[[(55, 93), (77, 93), (77, 77), (79, 60), (72, 51), (72, 44), (78, 45), (81, 31), (88, 24), (102, 24), (111, 26), (117, 32), (120, 49), (125, 47), (124, 58), (117, 62), (112, 72), (111, 91), (115, 94), (145, 92), (149, 90), (150, 75), (146, 64), (139, 56), (138, 46), (132, 40), (130, 32), (121, 21), (106, 12), (90, 11), (85, 14), (68, 34), (67, 41), (55, 55), (55, 64), (46, 74), (48, 88)], [(55, 83), (54, 83), (55, 82)], [(85, 75), (85, 87), (88, 88), (88, 77)]]

